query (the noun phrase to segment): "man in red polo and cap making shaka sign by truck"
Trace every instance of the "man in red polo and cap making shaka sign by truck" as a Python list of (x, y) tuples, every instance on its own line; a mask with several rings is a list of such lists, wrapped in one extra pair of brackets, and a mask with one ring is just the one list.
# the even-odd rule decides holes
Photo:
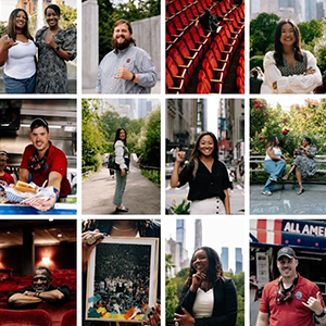
[(294, 250), (281, 248), (277, 253), (280, 276), (264, 287), (256, 326), (314, 326), (313, 316), (326, 322), (318, 287), (300, 276), (297, 266)]

